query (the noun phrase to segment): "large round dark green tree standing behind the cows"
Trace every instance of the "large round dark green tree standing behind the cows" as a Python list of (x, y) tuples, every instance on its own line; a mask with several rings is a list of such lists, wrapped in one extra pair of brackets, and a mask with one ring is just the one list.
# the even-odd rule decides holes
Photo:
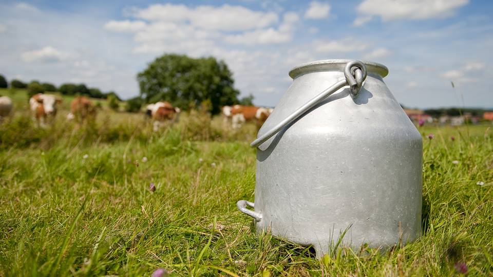
[(205, 100), (212, 103), (211, 112), (238, 103), (232, 72), (214, 57), (191, 58), (166, 54), (156, 58), (139, 72), (140, 94), (146, 102), (168, 101), (183, 109), (198, 107)]

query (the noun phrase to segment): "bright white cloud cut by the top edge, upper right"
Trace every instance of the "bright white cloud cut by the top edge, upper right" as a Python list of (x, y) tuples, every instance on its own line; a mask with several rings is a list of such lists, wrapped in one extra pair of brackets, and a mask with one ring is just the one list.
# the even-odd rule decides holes
[(455, 14), (458, 8), (468, 2), (469, 0), (365, 0), (356, 10), (364, 15), (381, 16), (383, 21), (443, 18)]

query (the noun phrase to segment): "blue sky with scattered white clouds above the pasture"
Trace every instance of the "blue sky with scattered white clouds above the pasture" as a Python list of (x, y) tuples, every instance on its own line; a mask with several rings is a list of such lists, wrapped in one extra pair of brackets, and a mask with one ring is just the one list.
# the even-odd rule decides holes
[(386, 65), (405, 106), (493, 108), (492, 49), (493, 1), (0, 0), (0, 74), (122, 98), (154, 58), (180, 53), (224, 60), (259, 106), (301, 63), (356, 58)]

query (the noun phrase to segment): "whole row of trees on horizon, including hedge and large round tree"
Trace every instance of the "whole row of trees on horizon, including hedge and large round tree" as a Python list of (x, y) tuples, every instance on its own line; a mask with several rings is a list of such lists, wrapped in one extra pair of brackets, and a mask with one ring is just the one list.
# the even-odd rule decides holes
[[(224, 61), (215, 57), (192, 58), (179, 54), (164, 54), (137, 74), (140, 94), (126, 101), (125, 110), (139, 111), (147, 103), (167, 101), (182, 110), (206, 107), (211, 114), (220, 112), (226, 105), (253, 105), (253, 95), (239, 98), (234, 87), (233, 72)], [(0, 87), (8, 87), (7, 80), (0, 75)], [(88, 88), (85, 84), (65, 83), (56, 87), (50, 83), (12, 80), (11, 88), (27, 89), (33, 95), (44, 91), (59, 91), (65, 95), (87, 95), (93, 98), (108, 98), (115, 92), (102, 92)], [(111, 97), (112, 98), (112, 97)]]

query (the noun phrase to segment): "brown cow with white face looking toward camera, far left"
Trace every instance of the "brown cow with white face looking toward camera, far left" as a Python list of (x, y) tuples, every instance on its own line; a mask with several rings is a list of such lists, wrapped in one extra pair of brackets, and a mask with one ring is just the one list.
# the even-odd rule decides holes
[(56, 115), (56, 106), (62, 103), (62, 98), (52, 94), (38, 93), (29, 99), (31, 111), (34, 114), (34, 120), (40, 127), (46, 127), (48, 121)]

